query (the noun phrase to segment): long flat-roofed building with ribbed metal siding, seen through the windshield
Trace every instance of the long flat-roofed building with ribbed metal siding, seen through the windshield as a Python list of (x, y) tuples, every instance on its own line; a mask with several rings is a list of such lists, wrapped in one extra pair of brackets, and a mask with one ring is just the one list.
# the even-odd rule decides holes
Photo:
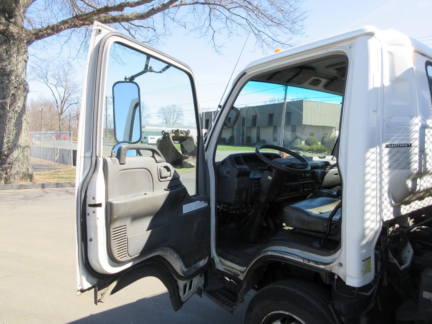
[[(304, 141), (314, 136), (321, 141), (324, 134), (333, 135), (339, 131), (340, 104), (295, 100), (286, 103), (283, 140), (285, 143), (298, 137)], [(239, 108), (240, 115), (232, 128), (225, 127), (222, 137), (228, 141), (234, 136), (235, 145), (244, 145), (247, 137), (251, 143), (265, 140), (267, 144), (279, 144), (282, 124), (283, 102)], [(214, 111), (201, 113), (204, 127), (211, 124)], [(229, 120), (227, 120), (229, 123)]]

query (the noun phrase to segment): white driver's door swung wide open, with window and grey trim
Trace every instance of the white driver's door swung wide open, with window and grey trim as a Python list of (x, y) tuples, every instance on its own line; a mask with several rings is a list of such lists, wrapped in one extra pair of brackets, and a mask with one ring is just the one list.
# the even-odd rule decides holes
[[(76, 274), (78, 294), (95, 289), (96, 304), (155, 276), (177, 310), (203, 286), (210, 206), (195, 90), (185, 64), (93, 25), (77, 149)], [(141, 143), (146, 125), (172, 106), (189, 125), (189, 151), (175, 144), (188, 163)]]

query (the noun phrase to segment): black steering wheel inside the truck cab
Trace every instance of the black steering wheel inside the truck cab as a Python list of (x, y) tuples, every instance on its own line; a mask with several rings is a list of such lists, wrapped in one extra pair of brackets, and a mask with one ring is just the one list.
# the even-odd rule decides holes
[[(276, 158), (273, 160), (269, 160), (263, 155), (263, 153), (260, 152), (261, 149), (275, 149), (277, 151), (285, 152), (290, 156), (294, 156), (296, 159), (300, 161), (300, 163), (295, 163), (290, 161), (289, 159), (284, 159), (284, 158)], [(267, 163), (267, 165), (270, 165), (270, 167), (273, 168), (273, 170), (277, 170), (280, 172), (305, 173), (311, 169), (311, 165), (304, 157), (302, 157), (301, 155), (295, 152), (292, 152), (289, 149), (284, 149), (283, 147), (280, 146), (270, 145), (270, 144), (258, 145), (255, 148), (255, 154), (262, 162)], [(303, 168), (298, 168), (298, 167), (303, 167)]]

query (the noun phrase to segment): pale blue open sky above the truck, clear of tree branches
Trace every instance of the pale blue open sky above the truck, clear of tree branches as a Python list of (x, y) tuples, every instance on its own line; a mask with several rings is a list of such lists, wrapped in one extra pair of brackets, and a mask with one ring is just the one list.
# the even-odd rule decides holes
[[(428, 39), (426, 36), (431, 36), (429, 38), (432, 39), (431, 0), (361, 2), (306, 0), (302, 7), (309, 10), (309, 14), (305, 21), (305, 36), (295, 39), (299, 43), (306, 43), (364, 25), (375, 25), (381, 29), (396, 29), (413, 38), (423, 38), (420, 40)], [(243, 47), (245, 36), (231, 38), (226, 42), (222, 55), (216, 54), (204, 39), (197, 38), (197, 35), (181, 28), (172, 29), (172, 36), (165, 39), (164, 42), (165, 44), (158, 46), (159, 50), (182, 60), (194, 71), (201, 109), (216, 107)], [(432, 44), (432, 40), (426, 40), (424, 43)], [(30, 54), (36, 51), (38, 48), (30, 48)], [(57, 56), (52, 51), (49, 55)], [(262, 53), (255, 48), (254, 39), (249, 38), (234, 74), (240, 72), (251, 61), (271, 54), (273, 51), (272, 48)], [(30, 58), (30, 63), (31, 60)], [(85, 61), (85, 58), (75, 61), (76, 77), (79, 80), (84, 77)], [(37, 98), (41, 94), (49, 96), (47, 89), (44, 89), (40, 83), (29, 81), (29, 86), (29, 98)]]

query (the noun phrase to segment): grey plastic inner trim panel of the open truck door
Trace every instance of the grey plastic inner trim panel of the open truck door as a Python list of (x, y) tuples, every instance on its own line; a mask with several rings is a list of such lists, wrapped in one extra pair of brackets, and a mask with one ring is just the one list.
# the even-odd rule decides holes
[[(171, 175), (161, 179), (160, 174), (167, 170)], [(181, 243), (181, 236), (208, 244), (208, 235), (203, 238), (200, 230), (210, 228), (210, 219), (205, 217), (210, 207), (183, 214), (184, 204), (206, 200), (206, 197), (191, 197), (168, 163), (157, 163), (151, 156), (128, 156), (126, 163), (120, 165), (117, 158), (105, 158), (104, 175), (108, 246), (117, 262), (130, 260), (159, 246), (175, 248)], [(191, 259), (192, 264), (206, 257), (205, 253), (200, 253), (191, 258), (194, 249), (188, 244), (180, 247), (176, 248), (180, 256)], [(186, 260), (184, 262), (186, 265)]]

